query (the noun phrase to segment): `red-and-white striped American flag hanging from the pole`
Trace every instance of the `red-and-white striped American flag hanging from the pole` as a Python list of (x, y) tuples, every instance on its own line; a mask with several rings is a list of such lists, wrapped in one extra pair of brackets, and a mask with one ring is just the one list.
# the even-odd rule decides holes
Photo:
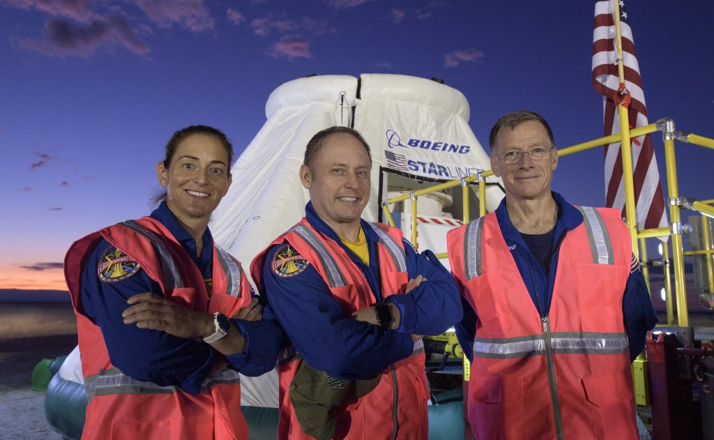
[[(620, 133), (618, 106), (615, 94), (620, 87), (617, 58), (615, 1), (620, 4), (620, 33), (622, 34), (625, 88), (630, 91), (628, 107), (630, 128), (648, 125), (645, 94), (640, 78), (640, 66), (635, 55), (635, 43), (623, 0), (595, 2), (595, 30), (593, 31), (593, 87), (603, 95), (605, 107), (605, 136)], [(665, 203), (660, 185), (660, 173), (650, 135), (632, 139), (635, 204), (638, 229), (667, 226)], [(605, 204), (625, 208), (625, 183), (620, 156), (620, 142), (605, 146)]]

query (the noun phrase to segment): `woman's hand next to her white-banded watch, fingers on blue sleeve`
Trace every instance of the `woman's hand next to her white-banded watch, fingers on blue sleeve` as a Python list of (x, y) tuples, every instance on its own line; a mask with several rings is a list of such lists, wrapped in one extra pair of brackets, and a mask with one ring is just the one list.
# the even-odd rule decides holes
[(134, 305), (121, 314), (124, 324), (136, 324), (139, 329), (161, 330), (183, 339), (205, 338), (216, 330), (213, 316), (151, 292), (136, 294), (126, 302)]

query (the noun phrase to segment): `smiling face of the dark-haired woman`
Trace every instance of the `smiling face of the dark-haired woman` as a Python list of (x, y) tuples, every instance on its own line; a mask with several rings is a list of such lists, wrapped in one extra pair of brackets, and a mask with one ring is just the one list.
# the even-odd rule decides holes
[(213, 209), (231, 185), (228, 166), (226, 147), (207, 134), (183, 139), (168, 168), (159, 162), (156, 174), (166, 187), (166, 205), (183, 226), (206, 228)]

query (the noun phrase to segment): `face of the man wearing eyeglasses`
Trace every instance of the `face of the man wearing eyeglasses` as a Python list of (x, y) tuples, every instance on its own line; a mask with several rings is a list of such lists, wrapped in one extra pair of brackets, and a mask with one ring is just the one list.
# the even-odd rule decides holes
[(508, 165), (503, 154), (508, 151), (526, 151), (533, 147), (549, 148), (548, 131), (538, 121), (525, 121), (513, 129), (503, 127), (496, 136), (496, 151), (491, 156), (493, 174), (501, 176), (506, 187), (506, 197), (510, 200), (542, 199), (550, 196), (550, 182), (553, 170), (558, 166), (555, 146), (543, 160), (533, 160), (528, 154), (521, 154), (521, 160)]

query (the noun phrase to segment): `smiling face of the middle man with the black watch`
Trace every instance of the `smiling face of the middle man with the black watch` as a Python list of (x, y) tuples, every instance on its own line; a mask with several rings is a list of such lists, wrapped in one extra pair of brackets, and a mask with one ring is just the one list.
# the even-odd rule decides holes
[(330, 134), (311, 166), (300, 167), (313, 207), (339, 236), (353, 238), (369, 201), (371, 164), (364, 145), (351, 134)]

